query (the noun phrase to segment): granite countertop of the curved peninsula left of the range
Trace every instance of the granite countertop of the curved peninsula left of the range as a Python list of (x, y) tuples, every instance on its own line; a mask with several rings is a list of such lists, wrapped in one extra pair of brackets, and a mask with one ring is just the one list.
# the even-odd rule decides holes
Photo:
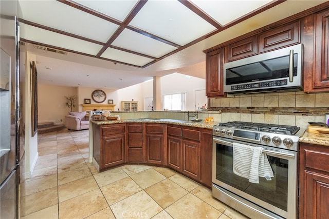
[(212, 129), (212, 127), (218, 122), (194, 122), (194, 121), (185, 121), (185, 120), (172, 120), (170, 118), (132, 118), (127, 120), (115, 120), (115, 121), (93, 121), (90, 122), (95, 123), (97, 125), (107, 125), (107, 124), (118, 124), (118, 123), (166, 123), (172, 125), (181, 125), (181, 126), (190, 126), (190, 127), (197, 127), (197, 128), (206, 128)]

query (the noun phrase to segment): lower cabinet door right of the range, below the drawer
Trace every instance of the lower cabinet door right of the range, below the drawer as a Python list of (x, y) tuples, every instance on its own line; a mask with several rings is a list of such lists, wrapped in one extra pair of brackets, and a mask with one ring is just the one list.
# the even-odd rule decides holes
[(305, 171), (305, 184), (304, 215), (301, 218), (328, 218), (329, 176)]

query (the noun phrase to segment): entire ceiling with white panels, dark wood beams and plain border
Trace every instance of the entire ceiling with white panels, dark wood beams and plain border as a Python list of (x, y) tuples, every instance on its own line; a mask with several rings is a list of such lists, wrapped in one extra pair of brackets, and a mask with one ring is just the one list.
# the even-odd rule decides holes
[(39, 84), (120, 89), (174, 72), (205, 78), (203, 50), (323, 2), (20, 0), (21, 39)]

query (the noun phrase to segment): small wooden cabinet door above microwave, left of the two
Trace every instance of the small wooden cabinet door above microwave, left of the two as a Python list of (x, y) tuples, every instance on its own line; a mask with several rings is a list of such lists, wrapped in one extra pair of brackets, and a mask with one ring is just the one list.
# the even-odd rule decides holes
[(227, 46), (227, 61), (231, 62), (257, 54), (257, 36), (242, 39)]

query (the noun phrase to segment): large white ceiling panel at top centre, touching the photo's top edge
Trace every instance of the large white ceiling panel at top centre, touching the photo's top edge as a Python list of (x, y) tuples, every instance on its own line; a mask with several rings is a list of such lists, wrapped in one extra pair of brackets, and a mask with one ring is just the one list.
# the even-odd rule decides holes
[(181, 46), (216, 29), (178, 1), (148, 1), (130, 25)]

